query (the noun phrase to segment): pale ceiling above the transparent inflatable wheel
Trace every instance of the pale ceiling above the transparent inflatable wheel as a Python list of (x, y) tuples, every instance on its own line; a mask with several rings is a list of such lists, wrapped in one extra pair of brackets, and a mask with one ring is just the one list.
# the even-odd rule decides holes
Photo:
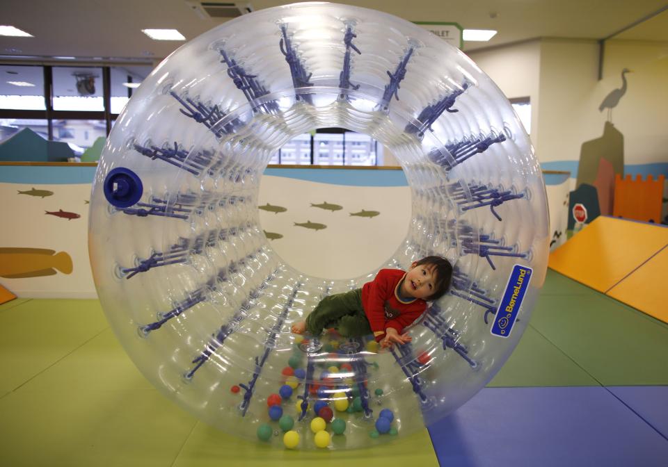
[[(210, 1), (210, 0), (209, 0)], [(229, 1), (229, 0), (228, 0)], [(0, 37), (0, 58), (151, 63), (183, 42), (155, 41), (144, 28), (176, 28), (186, 40), (222, 24), (200, 17), (186, 0), (2, 0), (0, 23), (34, 38)], [(288, 2), (250, 0), (253, 10)], [(667, 0), (349, 0), (409, 21), (456, 22), (463, 28), (495, 29), (489, 42), (465, 42), (464, 51), (541, 37), (602, 39), (640, 22), (615, 39), (668, 42)], [(238, 2), (244, 5), (246, 2)]]

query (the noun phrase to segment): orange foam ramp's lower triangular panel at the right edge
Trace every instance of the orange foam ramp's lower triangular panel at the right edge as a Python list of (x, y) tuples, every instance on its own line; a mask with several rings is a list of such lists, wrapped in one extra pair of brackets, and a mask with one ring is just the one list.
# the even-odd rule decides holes
[(663, 322), (668, 322), (666, 284), (668, 246), (610, 289), (607, 295), (633, 306)]

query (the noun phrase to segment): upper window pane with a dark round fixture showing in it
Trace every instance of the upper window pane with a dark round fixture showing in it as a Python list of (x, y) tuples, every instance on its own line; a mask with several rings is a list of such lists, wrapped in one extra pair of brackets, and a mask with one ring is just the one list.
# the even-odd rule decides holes
[(104, 111), (102, 68), (53, 67), (54, 110)]

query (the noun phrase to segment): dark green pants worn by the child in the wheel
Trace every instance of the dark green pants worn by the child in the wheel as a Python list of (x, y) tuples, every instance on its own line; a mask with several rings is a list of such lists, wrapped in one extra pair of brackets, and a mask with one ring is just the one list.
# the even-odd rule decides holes
[(336, 328), (343, 337), (372, 334), (362, 306), (362, 289), (324, 297), (306, 318), (306, 330), (319, 336), (323, 329)]

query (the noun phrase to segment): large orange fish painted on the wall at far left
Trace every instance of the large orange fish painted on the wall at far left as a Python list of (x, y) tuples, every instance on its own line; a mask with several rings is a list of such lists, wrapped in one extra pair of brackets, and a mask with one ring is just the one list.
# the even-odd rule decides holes
[(66, 252), (43, 248), (0, 248), (0, 277), (22, 279), (70, 274), (72, 258)]

